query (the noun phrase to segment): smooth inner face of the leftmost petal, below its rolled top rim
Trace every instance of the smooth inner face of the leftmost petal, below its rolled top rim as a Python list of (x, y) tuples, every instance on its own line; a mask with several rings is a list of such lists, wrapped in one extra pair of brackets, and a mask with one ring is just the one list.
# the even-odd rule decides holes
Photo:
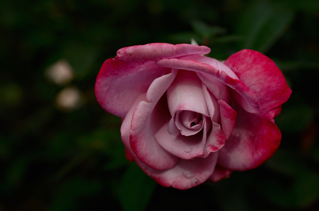
[(135, 66), (119, 58), (108, 59), (96, 78), (96, 99), (108, 112), (125, 117), (135, 99), (147, 91), (152, 81), (170, 71), (171, 68), (158, 68), (153, 63)]

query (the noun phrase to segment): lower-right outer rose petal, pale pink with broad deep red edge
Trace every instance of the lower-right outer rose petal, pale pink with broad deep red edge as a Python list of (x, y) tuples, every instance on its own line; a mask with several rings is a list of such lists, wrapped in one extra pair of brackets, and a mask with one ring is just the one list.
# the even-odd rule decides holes
[(237, 112), (233, 133), (219, 150), (220, 166), (237, 171), (245, 171), (260, 166), (277, 150), (281, 133), (272, 116), (263, 113), (246, 112), (234, 102)]

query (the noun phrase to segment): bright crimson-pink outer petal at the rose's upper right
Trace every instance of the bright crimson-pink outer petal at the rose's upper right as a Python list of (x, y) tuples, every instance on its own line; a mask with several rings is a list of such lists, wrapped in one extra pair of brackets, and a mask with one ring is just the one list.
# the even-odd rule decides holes
[(277, 65), (258, 51), (241, 50), (230, 56), (225, 65), (229, 66), (255, 94), (262, 112), (283, 104), (291, 94)]

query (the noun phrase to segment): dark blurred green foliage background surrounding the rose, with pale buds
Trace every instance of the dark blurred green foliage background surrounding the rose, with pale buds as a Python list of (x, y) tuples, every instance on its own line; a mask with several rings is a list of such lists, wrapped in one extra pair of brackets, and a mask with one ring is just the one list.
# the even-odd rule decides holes
[[(125, 159), (94, 84), (122, 47), (191, 38), (264, 53), (293, 92), (270, 160), (180, 191)], [(319, 210), (318, 0), (0, 0), (0, 70), (0, 211)]]

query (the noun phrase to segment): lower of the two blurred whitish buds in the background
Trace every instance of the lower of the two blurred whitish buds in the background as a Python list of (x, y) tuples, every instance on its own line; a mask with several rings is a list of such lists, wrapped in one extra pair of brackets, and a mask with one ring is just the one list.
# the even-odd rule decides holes
[(78, 88), (64, 88), (56, 95), (56, 107), (61, 111), (75, 110), (84, 104), (84, 99), (84, 94)]

